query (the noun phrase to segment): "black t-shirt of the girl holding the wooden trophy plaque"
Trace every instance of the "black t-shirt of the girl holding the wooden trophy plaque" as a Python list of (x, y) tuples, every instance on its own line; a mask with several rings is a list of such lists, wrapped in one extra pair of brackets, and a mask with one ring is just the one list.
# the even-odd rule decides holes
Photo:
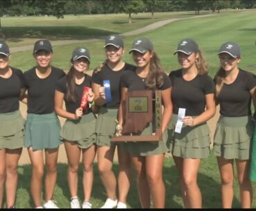
[[(145, 86), (145, 78), (140, 77), (136, 74), (136, 71), (126, 71), (120, 80), (122, 87), (126, 87), (128, 91), (143, 91), (149, 90)], [(154, 90), (165, 90), (172, 86), (170, 78), (163, 73), (163, 85), (161, 87), (156, 87)]]

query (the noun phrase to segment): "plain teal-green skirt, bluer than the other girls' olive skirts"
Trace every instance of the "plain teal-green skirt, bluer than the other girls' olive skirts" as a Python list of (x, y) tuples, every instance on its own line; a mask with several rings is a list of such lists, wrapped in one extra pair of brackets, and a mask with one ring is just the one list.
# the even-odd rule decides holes
[(55, 112), (47, 114), (28, 113), (25, 127), (25, 147), (55, 149), (60, 140), (60, 120)]

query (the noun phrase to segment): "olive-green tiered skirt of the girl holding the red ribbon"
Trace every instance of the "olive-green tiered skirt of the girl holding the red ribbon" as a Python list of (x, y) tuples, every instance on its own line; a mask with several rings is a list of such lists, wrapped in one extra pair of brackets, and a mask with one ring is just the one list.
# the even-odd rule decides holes
[(74, 141), (78, 147), (86, 149), (96, 142), (96, 118), (91, 112), (79, 120), (66, 120), (61, 131), (62, 140)]

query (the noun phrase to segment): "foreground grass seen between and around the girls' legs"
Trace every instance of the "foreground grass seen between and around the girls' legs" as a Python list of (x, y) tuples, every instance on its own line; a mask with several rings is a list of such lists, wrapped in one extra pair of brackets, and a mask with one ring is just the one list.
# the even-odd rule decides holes
[[(99, 208), (104, 204), (106, 200), (106, 194), (104, 192), (104, 187), (100, 181), (98, 175), (97, 163), (94, 164), (94, 184), (93, 192), (91, 195), (91, 203), (93, 208)], [(68, 183), (66, 180), (66, 170), (67, 165), (64, 163), (58, 163), (57, 172), (57, 184), (55, 187), (54, 199), (57, 201), (57, 205), (60, 208), (69, 208), (70, 193), (68, 190)], [(118, 164), (114, 163), (113, 171), (118, 174)], [(22, 165), (19, 166), (19, 183), (17, 191), (17, 208), (33, 208), (33, 201), (30, 197), (30, 177), (31, 177), (31, 166)], [(177, 169), (174, 165), (174, 161), (171, 157), (165, 158), (165, 165), (163, 168), (163, 180), (165, 182), (166, 189), (166, 208), (183, 208), (183, 202), (181, 199), (181, 194), (179, 190), (179, 176)], [(82, 192), (82, 165), (80, 165), (78, 177), (78, 197), (82, 202), (83, 192)], [(209, 158), (205, 158), (200, 166), (198, 174), (198, 183), (201, 189), (203, 197), (203, 208), (221, 208), (221, 185), (219, 170), (217, 167), (216, 157), (211, 155)], [(256, 208), (256, 183), (253, 183), (254, 190), (254, 201), (253, 208)], [(235, 173), (235, 183), (234, 183), (234, 200), (233, 208), (240, 208), (239, 205), (239, 187), (237, 184), (237, 174)], [(130, 208), (140, 208), (140, 202), (138, 199), (138, 192), (136, 189), (135, 175), (133, 175), (131, 188), (129, 190), (127, 203)], [(5, 206), (5, 205), (4, 205)], [(3, 207), (4, 207), (3, 206)]]

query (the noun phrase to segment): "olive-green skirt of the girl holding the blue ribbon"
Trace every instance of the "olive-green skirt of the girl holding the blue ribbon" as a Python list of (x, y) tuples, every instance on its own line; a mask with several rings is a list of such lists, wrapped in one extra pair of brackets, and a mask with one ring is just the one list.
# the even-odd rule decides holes
[(107, 109), (100, 107), (98, 118), (96, 120), (96, 145), (111, 146), (111, 138), (116, 134), (116, 119), (118, 118), (118, 109)]

